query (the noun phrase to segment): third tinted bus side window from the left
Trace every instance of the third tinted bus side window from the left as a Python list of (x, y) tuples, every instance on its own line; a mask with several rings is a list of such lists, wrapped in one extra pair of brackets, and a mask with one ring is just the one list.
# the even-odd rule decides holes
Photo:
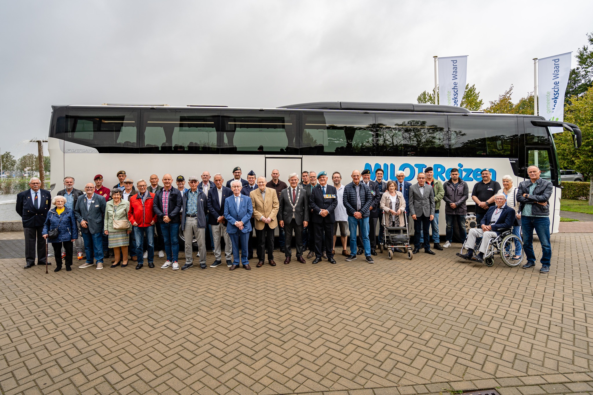
[(298, 153), (297, 116), (282, 111), (222, 111), (221, 153)]

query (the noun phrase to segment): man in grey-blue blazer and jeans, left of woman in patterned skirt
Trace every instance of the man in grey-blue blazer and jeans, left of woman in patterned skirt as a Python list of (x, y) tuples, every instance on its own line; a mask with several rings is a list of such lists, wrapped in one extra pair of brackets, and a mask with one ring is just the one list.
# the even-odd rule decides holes
[(103, 225), (105, 217), (106, 198), (95, 194), (95, 185), (89, 182), (84, 187), (86, 192), (76, 200), (74, 215), (80, 224), (84, 250), (87, 261), (78, 266), (81, 269), (93, 266), (93, 258), (97, 259), (97, 270), (103, 269)]

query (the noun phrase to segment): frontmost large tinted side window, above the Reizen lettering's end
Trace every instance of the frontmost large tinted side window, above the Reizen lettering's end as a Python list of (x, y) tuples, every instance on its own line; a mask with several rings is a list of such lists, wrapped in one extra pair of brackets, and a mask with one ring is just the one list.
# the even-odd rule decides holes
[(518, 158), (517, 117), (449, 115), (450, 156)]

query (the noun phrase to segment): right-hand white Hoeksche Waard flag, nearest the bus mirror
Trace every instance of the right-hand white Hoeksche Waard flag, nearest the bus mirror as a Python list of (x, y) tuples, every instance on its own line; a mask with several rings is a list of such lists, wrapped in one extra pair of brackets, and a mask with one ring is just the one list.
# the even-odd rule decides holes
[[(538, 60), (537, 107), (540, 115), (549, 121), (564, 120), (564, 95), (570, 74), (572, 52), (544, 57)], [(551, 133), (559, 133), (562, 127), (550, 128)]]

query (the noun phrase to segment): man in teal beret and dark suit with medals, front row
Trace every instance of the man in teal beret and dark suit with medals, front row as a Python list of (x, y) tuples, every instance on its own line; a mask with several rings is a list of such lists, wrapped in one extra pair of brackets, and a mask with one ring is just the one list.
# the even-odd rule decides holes
[(331, 246), (333, 244), (333, 224), (336, 223), (337, 190), (333, 185), (327, 185), (327, 173), (321, 171), (317, 174), (319, 184), (311, 190), (309, 207), (311, 208), (311, 221), (315, 223), (315, 259), (314, 264), (321, 262), (323, 251), (321, 251), (321, 240), (325, 239), (327, 246), (327, 261), (335, 264)]

